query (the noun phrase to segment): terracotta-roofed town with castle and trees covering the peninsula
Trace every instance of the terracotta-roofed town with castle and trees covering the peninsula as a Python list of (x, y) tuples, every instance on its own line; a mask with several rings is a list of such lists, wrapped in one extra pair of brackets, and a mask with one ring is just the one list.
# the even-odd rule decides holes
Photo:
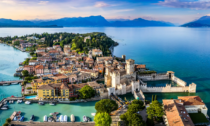
[[(21, 77), (23, 97), (9, 97), (1, 101), (1, 109), (7, 110), (7, 101), (25, 104), (71, 104), (98, 101), (94, 123), (87, 116), (87, 125), (132, 125), (132, 126), (194, 126), (208, 125), (208, 108), (199, 96), (177, 96), (177, 99), (148, 101), (145, 93), (196, 92), (196, 84), (187, 84), (175, 76), (173, 71), (157, 73), (145, 64), (135, 64), (134, 59), (125, 55), (112, 55), (118, 43), (104, 33), (43, 33), (22, 37), (0, 38), (15, 48), (26, 51), (30, 57), (21, 62), (14, 76)], [(151, 86), (149, 82), (169, 80), (176, 85)], [(3, 81), (3, 86), (15, 82)], [(120, 95), (132, 93), (132, 101)], [(14, 112), (4, 126), (11, 123), (27, 125), (21, 113)], [(52, 122), (67, 123), (67, 116), (52, 113), (43, 118), (44, 125)], [(18, 119), (18, 116), (20, 117)], [(34, 115), (33, 115), (34, 116)], [(38, 115), (35, 115), (38, 116)], [(75, 121), (74, 115), (71, 122)], [(104, 118), (102, 122), (100, 118)], [(33, 118), (31, 118), (33, 121)], [(32, 125), (32, 124), (31, 124)], [(41, 125), (35, 123), (34, 125)]]

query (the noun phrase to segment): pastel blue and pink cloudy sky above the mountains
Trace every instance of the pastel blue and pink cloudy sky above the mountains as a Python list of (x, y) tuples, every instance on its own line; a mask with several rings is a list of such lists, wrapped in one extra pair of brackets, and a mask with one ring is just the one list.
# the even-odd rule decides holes
[(0, 18), (50, 20), (91, 15), (184, 24), (210, 16), (210, 0), (0, 0)]

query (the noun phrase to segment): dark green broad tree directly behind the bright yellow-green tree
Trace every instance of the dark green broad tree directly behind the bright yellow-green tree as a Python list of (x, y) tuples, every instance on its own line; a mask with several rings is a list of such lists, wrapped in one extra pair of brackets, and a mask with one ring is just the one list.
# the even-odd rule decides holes
[(95, 109), (97, 112), (106, 112), (111, 113), (118, 108), (118, 105), (115, 101), (110, 99), (102, 99), (95, 104)]

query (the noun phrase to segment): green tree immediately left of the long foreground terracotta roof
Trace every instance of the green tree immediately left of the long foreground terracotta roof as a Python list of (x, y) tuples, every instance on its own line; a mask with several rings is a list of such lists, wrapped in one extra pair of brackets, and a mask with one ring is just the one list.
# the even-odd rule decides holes
[(162, 105), (157, 100), (152, 101), (150, 106), (147, 108), (147, 115), (150, 119), (153, 117), (161, 118), (164, 115)]

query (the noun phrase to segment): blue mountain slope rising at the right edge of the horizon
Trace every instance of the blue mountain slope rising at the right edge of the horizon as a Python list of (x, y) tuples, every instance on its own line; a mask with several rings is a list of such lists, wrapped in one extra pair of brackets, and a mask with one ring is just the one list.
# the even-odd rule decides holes
[(203, 16), (198, 20), (181, 25), (182, 27), (210, 27), (210, 16)]

